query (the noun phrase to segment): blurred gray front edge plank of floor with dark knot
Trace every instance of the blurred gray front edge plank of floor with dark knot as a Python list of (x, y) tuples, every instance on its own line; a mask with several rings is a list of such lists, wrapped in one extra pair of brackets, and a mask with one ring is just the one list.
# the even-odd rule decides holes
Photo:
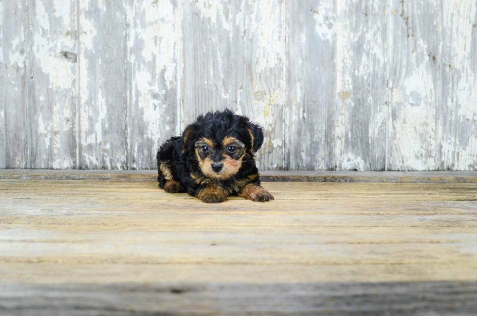
[[(0, 285), (3, 315), (474, 315), (475, 282)], [(67, 298), (67, 299), (65, 299)], [(184, 302), (187, 302), (184, 304)]]

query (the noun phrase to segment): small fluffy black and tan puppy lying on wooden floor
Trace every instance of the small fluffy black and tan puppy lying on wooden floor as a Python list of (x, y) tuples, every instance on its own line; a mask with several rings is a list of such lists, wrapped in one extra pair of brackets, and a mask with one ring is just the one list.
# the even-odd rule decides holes
[(201, 115), (157, 152), (159, 187), (187, 192), (205, 203), (220, 203), (231, 195), (273, 200), (260, 186), (254, 160), (262, 143), (262, 129), (245, 116), (229, 110)]

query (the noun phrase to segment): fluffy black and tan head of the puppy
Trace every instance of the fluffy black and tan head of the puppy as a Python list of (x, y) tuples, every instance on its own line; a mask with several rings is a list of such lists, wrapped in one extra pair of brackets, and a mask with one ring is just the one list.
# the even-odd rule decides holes
[(225, 180), (237, 174), (246, 155), (262, 146), (263, 130), (229, 110), (199, 116), (183, 132), (184, 149), (208, 178)]

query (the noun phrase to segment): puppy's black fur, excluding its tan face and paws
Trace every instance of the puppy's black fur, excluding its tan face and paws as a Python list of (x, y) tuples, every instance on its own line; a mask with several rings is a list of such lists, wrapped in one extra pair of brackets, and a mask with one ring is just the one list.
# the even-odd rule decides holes
[[(244, 144), (245, 148), (242, 152), (245, 152), (241, 167), (235, 175), (228, 179), (208, 178), (199, 165), (196, 142), (207, 138), (213, 140), (215, 144), (221, 144), (225, 137), (234, 137)], [(229, 110), (201, 115), (194, 123), (186, 127), (182, 136), (170, 138), (157, 152), (159, 187), (164, 188), (168, 181), (161, 171), (161, 164), (165, 164), (171, 171), (173, 180), (181, 185), (181, 191), (185, 191), (191, 196), (198, 196), (201, 189), (207, 184), (220, 186), (228, 192), (228, 195), (238, 195), (239, 187), (247, 184), (260, 185), (254, 155), (262, 143), (262, 128), (245, 116), (235, 115)], [(254, 175), (256, 176), (254, 177)], [(202, 178), (202, 183), (197, 178)]]

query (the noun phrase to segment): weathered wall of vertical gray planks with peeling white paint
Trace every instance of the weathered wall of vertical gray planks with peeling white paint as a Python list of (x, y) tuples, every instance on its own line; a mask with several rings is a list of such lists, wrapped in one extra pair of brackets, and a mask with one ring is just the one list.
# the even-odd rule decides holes
[(476, 170), (475, 0), (0, 0), (0, 168), (155, 168), (195, 116), (262, 169)]

